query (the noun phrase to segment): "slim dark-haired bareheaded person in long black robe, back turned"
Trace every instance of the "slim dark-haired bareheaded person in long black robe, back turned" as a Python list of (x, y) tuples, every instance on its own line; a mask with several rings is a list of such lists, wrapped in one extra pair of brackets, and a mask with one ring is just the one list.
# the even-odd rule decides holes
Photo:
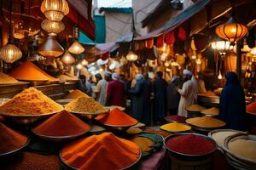
[(167, 82), (163, 79), (163, 72), (158, 71), (153, 82), (154, 90), (154, 121), (164, 122), (166, 116), (166, 87)]

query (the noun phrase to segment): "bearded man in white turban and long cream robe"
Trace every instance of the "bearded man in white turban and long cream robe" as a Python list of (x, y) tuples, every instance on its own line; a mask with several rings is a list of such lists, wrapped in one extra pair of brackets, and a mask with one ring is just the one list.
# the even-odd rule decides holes
[(177, 115), (187, 117), (188, 113), (186, 109), (195, 103), (198, 90), (195, 77), (191, 71), (184, 69), (183, 79), (183, 88), (177, 88), (177, 92), (181, 95)]

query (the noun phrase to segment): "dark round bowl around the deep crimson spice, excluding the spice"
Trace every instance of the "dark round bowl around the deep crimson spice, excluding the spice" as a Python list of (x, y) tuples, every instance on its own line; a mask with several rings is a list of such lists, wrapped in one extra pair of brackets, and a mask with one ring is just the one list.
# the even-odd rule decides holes
[[(203, 154), (203, 155), (189, 155), (189, 154), (183, 154), (183, 153), (179, 153), (177, 151), (174, 151), (174, 150), (171, 150), (170, 148), (168, 148), (168, 146), (166, 145), (166, 142), (169, 140), (169, 139), (172, 139), (174, 137), (177, 137), (177, 136), (182, 136), (182, 135), (189, 135), (189, 134), (192, 134), (192, 135), (196, 135), (196, 136), (200, 136), (200, 137), (203, 137), (205, 139), (207, 139), (208, 141), (212, 142), (214, 148), (213, 150), (211, 150), (210, 152), (206, 153), (206, 154)], [(165, 143), (164, 143), (166, 149), (168, 150), (168, 154), (171, 155), (171, 156), (175, 156), (179, 159), (182, 159), (182, 160), (188, 160), (188, 161), (196, 161), (196, 160), (201, 160), (201, 159), (205, 159), (207, 158), (208, 156), (212, 156), (212, 154), (215, 152), (215, 150), (217, 150), (218, 148), (218, 144), (216, 144), (216, 142), (205, 136), (205, 135), (202, 135), (202, 134), (199, 134), (199, 133), (175, 133), (175, 134), (171, 134), (169, 136), (166, 137), (165, 139)]]

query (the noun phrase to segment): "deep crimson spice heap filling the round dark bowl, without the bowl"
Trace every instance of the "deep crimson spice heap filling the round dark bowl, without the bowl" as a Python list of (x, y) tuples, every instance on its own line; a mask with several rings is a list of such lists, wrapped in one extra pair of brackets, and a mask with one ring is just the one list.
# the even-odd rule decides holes
[(195, 134), (177, 135), (166, 141), (166, 147), (177, 153), (203, 156), (216, 149), (212, 141)]

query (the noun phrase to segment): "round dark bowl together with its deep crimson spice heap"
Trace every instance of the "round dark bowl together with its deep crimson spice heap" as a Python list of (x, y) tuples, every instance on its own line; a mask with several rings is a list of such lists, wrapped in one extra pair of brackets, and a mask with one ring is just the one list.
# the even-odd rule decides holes
[(176, 133), (165, 139), (168, 153), (182, 160), (200, 160), (211, 156), (217, 149), (216, 142), (198, 133)]

